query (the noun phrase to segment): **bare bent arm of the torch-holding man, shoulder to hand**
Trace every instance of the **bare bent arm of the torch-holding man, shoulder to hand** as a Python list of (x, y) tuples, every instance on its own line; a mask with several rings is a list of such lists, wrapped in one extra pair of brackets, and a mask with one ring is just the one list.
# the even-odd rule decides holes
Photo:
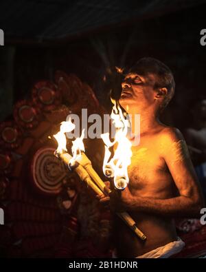
[(129, 210), (157, 213), (162, 216), (199, 216), (204, 201), (183, 136), (178, 129), (165, 129), (162, 157), (179, 190), (179, 196), (169, 199), (131, 196), (122, 193), (124, 207)]

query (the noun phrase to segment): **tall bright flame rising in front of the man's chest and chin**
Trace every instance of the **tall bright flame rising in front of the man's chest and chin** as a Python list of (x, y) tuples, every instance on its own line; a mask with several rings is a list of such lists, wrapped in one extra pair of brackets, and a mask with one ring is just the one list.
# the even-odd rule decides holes
[[(132, 144), (126, 137), (129, 121), (124, 118), (124, 114), (119, 105), (117, 105), (115, 101), (112, 102), (114, 106), (111, 119), (116, 127), (116, 133), (113, 142), (109, 139), (108, 133), (101, 135), (105, 144), (103, 172), (108, 178), (114, 178), (114, 184), (117, 189), (125, 189), (129, 182), (127, 168), (131, 163), (131, 156), (133, 155), (131, 151)], [(114, 148), (114, 156), (109, 160), (111, 157), (109, 148), (115, 147), (116, 145), (117, 147)]]

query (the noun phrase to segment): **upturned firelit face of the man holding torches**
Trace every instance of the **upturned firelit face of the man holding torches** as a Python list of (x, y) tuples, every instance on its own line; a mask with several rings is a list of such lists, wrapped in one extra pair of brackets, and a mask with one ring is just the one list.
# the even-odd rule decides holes
[(122, 82), (122, 93), (119, 103), (127, 107), (137, 106), (145, 108), (154, 103), (157, 91), (154, 90), (155, 76), (148, 74), (141, 76), (136, 73), (127, 74)]

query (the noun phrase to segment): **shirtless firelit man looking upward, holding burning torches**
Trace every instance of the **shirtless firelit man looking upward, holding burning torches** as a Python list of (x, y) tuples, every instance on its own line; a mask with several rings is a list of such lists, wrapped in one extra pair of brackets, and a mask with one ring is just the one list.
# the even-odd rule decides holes
[(159, 258), (146, 254), (158, 248), (174, 249), (166, 257), (160, 253), (160, 258), (178, 253), (184, 243), (176, 236), (174, 218), (199, 216), (204, 205), (181, 132), (158, 119), (174, 94), (174, 86), (170, 69), (152, 58), (138, 61), (122, 83), (119, 103), (132, 116), (133, 132), (134, 116), (140, 114), (140, 143), (133, 143), (128, 187), (100, 202), (110, 200), (113, 211), (128, 211), (147, 239), (141, 241), (115, 218), (119, 258)]

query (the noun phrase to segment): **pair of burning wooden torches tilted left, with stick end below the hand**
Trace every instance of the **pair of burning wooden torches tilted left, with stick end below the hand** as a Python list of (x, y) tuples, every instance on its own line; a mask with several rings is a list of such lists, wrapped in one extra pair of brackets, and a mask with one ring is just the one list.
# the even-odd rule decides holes
[[(111, 190), (106, 187), (103, 180), (98, 176), (96, 171), (91, 165), (91, 160), (87, 158), (84, 153), (84, 130), (80, 138), (73, 140), (73, 146), (71, 148), (73, 156), (67, 152), (67, 138), (65, 136), (66, 132), (71, 132), (75, 128), (75, 125), (71, 120), (67, 122), (62, 122), (60, 125), (60, 131), (54, 135), (58, 142), (58, 147), (54, 153), (55, 156), (60, 158), (65, 165), (68, 165), (69, 169), (76, 171), (80, 180), (85, 182), (98, 196), (108, 196)], [(126, 212), (117, 213), (119, 218), (122, 218), (128, 227), (132, 229), (141, 240), (145, 240), (146, 236), (142, 233), (136, 226), (135, 221)]]

